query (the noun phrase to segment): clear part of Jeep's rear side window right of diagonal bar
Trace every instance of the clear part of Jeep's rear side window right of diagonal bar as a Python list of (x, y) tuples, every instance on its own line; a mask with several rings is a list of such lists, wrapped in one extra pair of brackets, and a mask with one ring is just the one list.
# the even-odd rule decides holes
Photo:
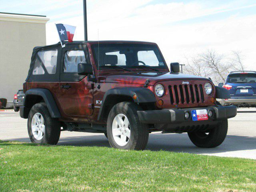
[[(58, 50), (39, 51), (38, 56), (45, 66), (48, 74), (56, 73)], [(35, 65), (36, 66), (36, 65)]]

